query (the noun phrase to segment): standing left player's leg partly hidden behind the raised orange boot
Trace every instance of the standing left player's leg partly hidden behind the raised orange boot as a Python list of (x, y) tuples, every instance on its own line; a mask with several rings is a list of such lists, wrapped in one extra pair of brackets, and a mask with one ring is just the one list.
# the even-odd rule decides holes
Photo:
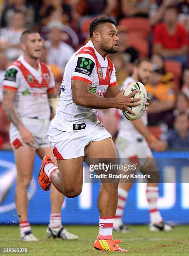
[[(57, 160), (55, 156), (53, 155), (53, 151), (50, 147), (40, 147), (37, 150), (37, 154), (40, 156), (41, 159), (43, 159), (44, 156), (50, 155), (52, 156), (53, 163), (55, 166), (57, 166)], [(62, 204), (65, 200), (65, 196), (60, 193), (54, 186), (52, 186), (51, 192), (50, 192), (50, 201), (51, 201), (51, 214), (50, 214), (50, 223), (48, 225), (48, 228), (46, 230), (48, 237), (59, 237), (62, 239), (67, 240), (75, 240), (78, 239), (77, 236), (75, 236), (72, 233), (69, 233), (64, 226), (62, 226)]]

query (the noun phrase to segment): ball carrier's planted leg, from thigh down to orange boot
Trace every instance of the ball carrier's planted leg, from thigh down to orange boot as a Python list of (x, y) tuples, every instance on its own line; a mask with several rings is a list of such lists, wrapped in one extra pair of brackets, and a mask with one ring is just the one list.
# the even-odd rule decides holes
[[(91, 142), (85, 148), (85, 157), (88, 159), (117, 159), (117, 151), (112, 138)], [(104, 249), (105, 243), (109, 246), (108, 248), (114, 246), (114, 250), (126, 251), (120, 248), (116, 241), (112, 240), (112, 229), (117, 207), (117, 187), (118, 183), (102, 183), (99, 190), (97, 203), (100, 212), (99, 235), (94, 243), (94, 248), (97, 250), (107, 250), (107, 248)], [(111, 248), (110, 250), (112, 251)]]

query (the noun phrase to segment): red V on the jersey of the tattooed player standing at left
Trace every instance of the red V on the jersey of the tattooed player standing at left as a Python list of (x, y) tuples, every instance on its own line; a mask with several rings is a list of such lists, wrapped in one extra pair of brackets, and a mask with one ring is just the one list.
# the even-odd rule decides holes
[(21, 61), (14, 61), (13, 65), (19, 67), (22, 72), (25, 80), (30, 85), (30, 87), (48, 87), (50, 82), (50, 72), (47, 66), (40, 61), (41, 73), (42, 73), (42, 82), (40, 83), (35, 76), (22, 64)]

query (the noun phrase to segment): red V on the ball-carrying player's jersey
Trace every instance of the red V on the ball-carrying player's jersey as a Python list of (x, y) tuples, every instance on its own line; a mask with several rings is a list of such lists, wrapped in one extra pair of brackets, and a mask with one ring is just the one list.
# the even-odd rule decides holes
[(110, 79), (111, 79), (112, 72), (113, 72), (113, 68), (114, 68), (114, 65), (113, 65), (112, 61), (109, 59), (109, 56), (107, 56), (108, 67), (107, 67), (107, 71), (106, 71), (106, 77), (104, 79), (103, 72), (102, 72), (102, 66), (100, 65), (100, 63), (97, 59), (97, 56), (94, 52), (94, 49), (92, 47), (90, 47), (90, 46), (83, 47), (81, 49), (81, 51), (79, 51), (77, 54), (90, 54), (91, 56), (93, 56), (93, 58), (96, 62), (96, 66), (97, 66), (97, 74), (98, 74), (98, 78), (99, 78), (99, 85), (108, 85), (109, 86)]

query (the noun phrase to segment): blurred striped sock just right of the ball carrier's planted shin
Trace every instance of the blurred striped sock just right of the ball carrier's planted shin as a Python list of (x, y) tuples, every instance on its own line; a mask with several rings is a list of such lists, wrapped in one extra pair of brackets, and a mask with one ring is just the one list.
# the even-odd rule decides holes
[(124, 207), (127, 201), (128, 192), (121, 187), (118, 187), (118, 202), (117, 202), (117, 209), (115, 214), (115, 222), (114, 228), (119, 228), (122, 225), (122, 216), (124, 212)]

